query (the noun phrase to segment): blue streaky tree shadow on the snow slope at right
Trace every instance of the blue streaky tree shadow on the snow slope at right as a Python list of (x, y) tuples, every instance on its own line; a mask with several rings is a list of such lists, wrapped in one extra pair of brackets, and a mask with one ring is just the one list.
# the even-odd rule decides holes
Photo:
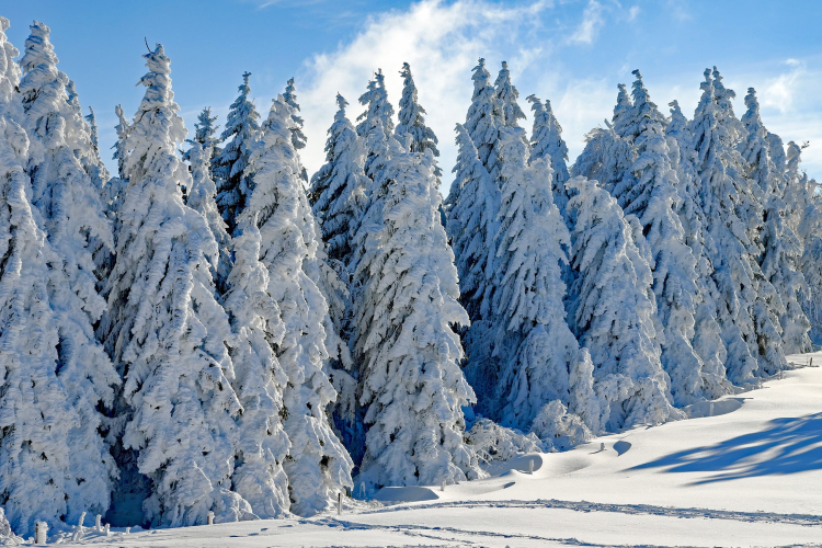
[(701, 484), (822, 468), (822, 412), (775, 419), (768, 424), (762, 432), (673, 453), (631, 469), (670, 467), (669, 472), (718, 472), (692, 483)]

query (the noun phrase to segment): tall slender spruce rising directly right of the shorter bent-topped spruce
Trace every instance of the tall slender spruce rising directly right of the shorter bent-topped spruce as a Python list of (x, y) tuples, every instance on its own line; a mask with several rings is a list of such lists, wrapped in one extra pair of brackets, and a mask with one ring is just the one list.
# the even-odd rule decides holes
[[(671, 167), (664, 132), (664, 116), (651, 101), (639, 70), (632, 89), (633, 109), (625, 119), (639, 132), (633, 140), (637, 159), (631, 165), (635, 184), (617, 186), (614, 197), (633, 214), (651, 249), (653, 293), (663, 332), (662, 366), (671, 378), (671, 393), (677, 406), (718, 396), (712, 375), (704, 375), (704, 363), (692, 345), (695, 336), (699, 283), (697, 259), (685, 243), (685, 228), (677, 212), (686, 196)], [(719, 390), (719, 393), (722, 393)]]

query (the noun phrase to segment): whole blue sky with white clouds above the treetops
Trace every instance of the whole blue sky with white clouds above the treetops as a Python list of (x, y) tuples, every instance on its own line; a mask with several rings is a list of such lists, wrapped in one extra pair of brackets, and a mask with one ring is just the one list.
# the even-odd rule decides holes
[(5, 2), (0, 14), (11, 20), (8, 35), (19, 49), (32, 20), (52, 27), (60, 69), (77, 82), (83, 107), (98, 113), (103, 148), (114, 141), (114, 105), (134, 113), (142, 95), (135, 83), (145, 72), (145, 37), (151, 46), (162, 43), (172, 59), (190, 132), (203, 106), (225, 119), (244, 70), (253, 73), (252, 95), (263, 113), (294, 76), (309, 171), (322, 162), (335, 92), (356, 117), (356, 99), (383, 68), (396, 104), (399, 69), (408, 61), (448, 173), (454, 125), (465, 118), (471, 68), (483, 56), (493, 76), (509, 61), (526, 112), (530, 93), (551, 100), (571, 161), (584, 134), (610, 116), (616, 85), (630, 83), (635, 68), (663, 112), (678, 99), (690, 115), (703, 70), (717, 65), (738, 93), (737, 114), (755, 87), (766, 126), (786, 141), (809, 140), (804, 167), (822, 176), (819, 1), (27, 0)]

